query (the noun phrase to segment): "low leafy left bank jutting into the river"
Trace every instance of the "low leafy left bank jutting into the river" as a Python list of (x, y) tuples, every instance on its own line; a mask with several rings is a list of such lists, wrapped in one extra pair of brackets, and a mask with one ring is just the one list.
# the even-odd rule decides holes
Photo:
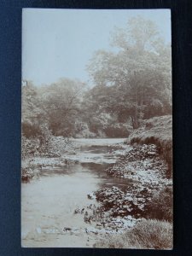
[(39, 139), (22, 138), (21, 180), (23, 182), (38, 177), (44, 169), (68, 166), (76, 162), (68, 158), (69, 155), (76, 154), (77, 146), (73, 140), (51, 136), (44, 144), (44, 147), (40, 147)]

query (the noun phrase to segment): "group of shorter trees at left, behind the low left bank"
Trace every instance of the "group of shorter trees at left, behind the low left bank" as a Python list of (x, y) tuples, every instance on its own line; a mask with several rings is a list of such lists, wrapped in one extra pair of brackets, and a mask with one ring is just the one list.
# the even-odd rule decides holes
[(53, 135), (74, 135), (83, 90), (84, 84), (70, 79), (41, 88), (26, 81), (22, 86), (23, 134), (28, 138), (40, 136), (41, 125), (46, 124)]

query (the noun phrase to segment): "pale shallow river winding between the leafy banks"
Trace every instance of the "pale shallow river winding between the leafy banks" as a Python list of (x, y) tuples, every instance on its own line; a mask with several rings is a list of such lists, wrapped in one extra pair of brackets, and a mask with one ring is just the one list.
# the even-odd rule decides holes
[[(60, 168), (44, 169), (30, 183), (21, 183), (22, 247), (92, 247), (96, 235), (85, 232), (93, 224), (84, 222), (83, 214), (74, 210), (96, 200), (87, 195), (113, 185), (123, 189), (128, 180), (107, 177), (104, 171), (117, 160), (119, 143), (125, 139), (75, 139), (78, 152), (69, 156), (78, 163)], [(122, 144), (121, 144), (122, 145)], [(128, 147), (128, 146), (127, 146)], [(127, 149), (129, 150), (129, 148)], [(120, 152), (120, 151), (119, 151)], [(63, 228), (70, 232), (63, 231)]]

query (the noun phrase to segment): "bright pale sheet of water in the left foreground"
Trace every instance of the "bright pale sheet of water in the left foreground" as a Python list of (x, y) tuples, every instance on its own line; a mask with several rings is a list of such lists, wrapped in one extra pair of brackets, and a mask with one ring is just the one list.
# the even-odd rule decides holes
[[(22, 184), (21, 229), (26, 247), (49, 247), (49, 236), (44, 233), (67, 227), (84, 227), (84, 216), (73, 214), (74, 209), (87, 206), (88, 192), (98, 189), (95, 175), (77, 172), (72, 176), (40, 177), (31, 183)], [(47, 230), (45, 232), (45, 230)], [(52, 232), (54, 233), (54, 232)], [(56, 236), (55, 236), (56, 239)], [(67, 247), (70, 245), (63, 244)]]

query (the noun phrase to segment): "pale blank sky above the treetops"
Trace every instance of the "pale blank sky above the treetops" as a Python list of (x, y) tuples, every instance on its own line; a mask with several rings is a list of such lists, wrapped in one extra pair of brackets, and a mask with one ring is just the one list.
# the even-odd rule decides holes
[(36, 86), (61, 78), (89, 84), (86, 65), (93, 53), (115, 50), (110, 46), (114, 26), (123, 28), (136, 15), (153, 20), (161, 37), (171, 42), (169, 9), (23, 9), (22, 79)]

